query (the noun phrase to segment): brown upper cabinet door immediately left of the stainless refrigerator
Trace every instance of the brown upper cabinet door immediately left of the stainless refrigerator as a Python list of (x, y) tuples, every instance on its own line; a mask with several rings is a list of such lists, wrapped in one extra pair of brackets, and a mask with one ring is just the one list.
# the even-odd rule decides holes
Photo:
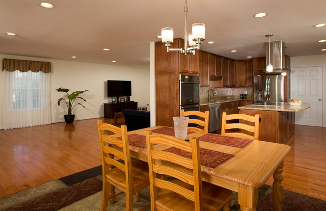
[(253, 86), (252, 60), (235, 61), (235, 86), (236, 87)]

